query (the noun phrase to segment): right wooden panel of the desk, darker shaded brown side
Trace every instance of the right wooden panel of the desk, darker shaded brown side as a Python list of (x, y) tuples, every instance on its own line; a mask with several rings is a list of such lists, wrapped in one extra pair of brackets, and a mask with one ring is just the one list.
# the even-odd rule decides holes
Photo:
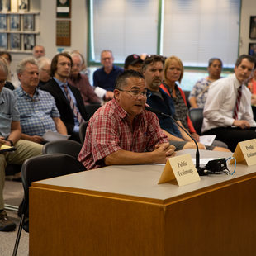
[(168, 206), (165, 255), (255, 255), (256, 178)]

